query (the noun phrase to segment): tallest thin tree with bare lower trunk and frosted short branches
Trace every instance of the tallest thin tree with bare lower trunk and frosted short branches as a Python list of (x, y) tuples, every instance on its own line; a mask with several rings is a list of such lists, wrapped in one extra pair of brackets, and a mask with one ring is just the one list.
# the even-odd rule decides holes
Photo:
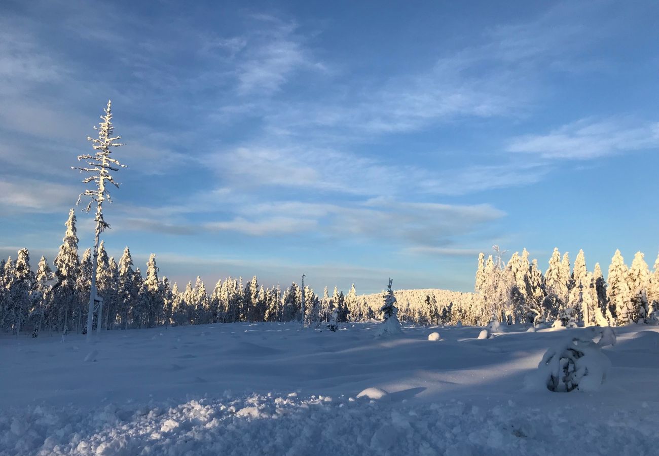
[[(92, 148), (96, 151), (94, 155), (83, 154), (78, 156), (78, 161), (84, 160), (87, 163), (86, 167), (72, 167), (78, 169), (81, 173), (90, 173), (89, 177), (82, 180), (82, 183), (94, 183), (94, 188), (87, 188), (83, 193), (78, 196), (78, 204), (82, 196), (89, 196), (91, 198), (89, 204), (85, 208), (86, 212), (90, 212), (92, 204), (96, 203), (96, 230), (94, 231), (94, 249), (92, 257), (92, 271), (96, 271), (98, 264), (98, 242), (100, 240), (101, 232), (108, 229), (110, 225), (103, 218), (103, 202), (107, 200), (112, 202), (110, 194), (107, 190), (107, 185), (112, 184), (119, 188), (119, 184), (115, 182), (110, 171), (119, 171), (120, 168), (126, 167), (119, 163), (117, 159), (111, 158), (111, 149), (123, 146), (117, 140), (121, 136), (113, 136), (114, 127), (112, 125), (112, 110), (111, 101), (107, 101), (105, 107), (105, 115), (101, 116), (101, 123), (98, 130), (98, 138), (87, 139), (92, 142)], [(96, 275), (92, 274), (92, 283), (90, 284), (90, 298), (89, 298), (89, 311), (87, 316), (87, 340), (92, 337), (92, 324), (94, 320), (94, 300), (96, 299)], [(99, 318), (101, 320), (101, 318)]]

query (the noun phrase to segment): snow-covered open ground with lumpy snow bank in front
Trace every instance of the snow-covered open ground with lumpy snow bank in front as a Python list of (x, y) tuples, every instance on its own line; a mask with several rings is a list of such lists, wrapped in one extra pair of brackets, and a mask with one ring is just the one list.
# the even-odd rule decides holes
[(657, 327), (616, 328), (600, 391), (552, 393), (525, 377), (585, 329), (376, 326), (5, 336), (0, 454), (658, 454)]

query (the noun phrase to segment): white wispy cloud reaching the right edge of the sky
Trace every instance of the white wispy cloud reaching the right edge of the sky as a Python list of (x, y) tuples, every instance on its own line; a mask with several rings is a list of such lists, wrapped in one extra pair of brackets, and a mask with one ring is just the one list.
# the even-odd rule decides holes
[(547, 134), (530, 134), (511, 141), (507, 150), (545, 159), (592, 159), (659, 148), (659, 123), (629, 119), (581, 119)]

